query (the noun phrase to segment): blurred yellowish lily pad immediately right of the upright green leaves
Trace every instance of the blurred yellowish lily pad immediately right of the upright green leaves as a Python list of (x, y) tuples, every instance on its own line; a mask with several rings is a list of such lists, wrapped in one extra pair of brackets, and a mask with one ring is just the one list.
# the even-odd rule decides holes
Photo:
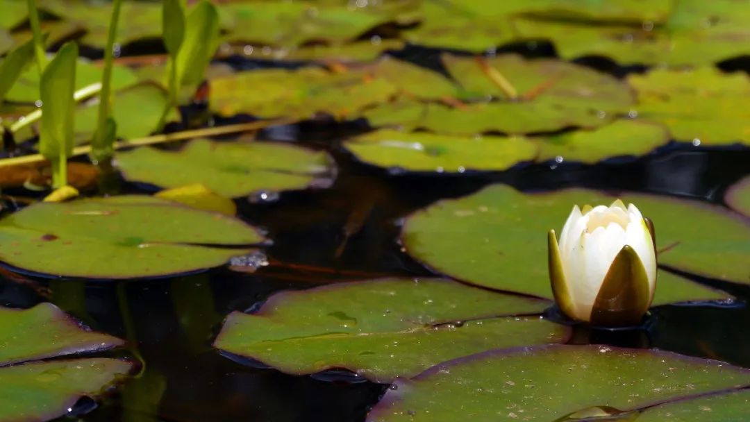
[[(326, 112), (337, 118), (359, 115), (366, 106), (395, 94), (383, 78), (365, 70), (332, 73), (319, 67), (268, 69), (211, 79), (209, 103), (220, 115), (311, 118)], [(253, 92), (253, 95), (248, 95)]]

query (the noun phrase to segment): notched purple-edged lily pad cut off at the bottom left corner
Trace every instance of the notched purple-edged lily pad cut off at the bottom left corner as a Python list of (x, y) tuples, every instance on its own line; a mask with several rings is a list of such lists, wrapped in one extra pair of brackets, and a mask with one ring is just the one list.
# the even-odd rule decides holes
[(80, 327), (53, 304), (0, 307), (0, 420), (48, 421), (68, 413), (80, 397), (97, 397), (127, 375), (131, 364), (111, 358), (41, 360), (122, 343)]

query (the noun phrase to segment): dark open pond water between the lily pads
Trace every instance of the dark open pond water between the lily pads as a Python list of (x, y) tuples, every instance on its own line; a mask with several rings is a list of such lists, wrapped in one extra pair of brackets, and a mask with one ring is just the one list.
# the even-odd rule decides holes
[[(430, 52), (416, 55), (429, 63)], [(234, 63), (238, 64), (238, 63)], [(621, 76), (638, 69), (607, 67)], [(242, 67), (257, 63), (241, 62)], [(736, 64), (734, 64), (736, 65)], [(398, 175), (357, 163), (339, 148), (362, 124), (327, 122), (277, 127), (262, 136), (329, 151), (339, 167), (327, 190), (239, 200), (240, 215), (274, 240), (269, 265), (254, 274), (218, 268), (163, 280), (83, 282), (34, 279), (49, 301), (95, 330), (127, 338), (115, 352), (145, 361), (145, 372), (96, 405), (82, 400), (79, 421), (364, 421), (386, 391), (347, 373), (288, 376), (211, 349), (223, 317), (251, 310), (275, 292), (342, 280), (433, 275), (401, 251), (401, 219), (439, 199), (473, 193), (491, 183), (525, 191), (594, 187), (635, 190), (721, 203), (724, 190), (750, 172), (750, 149), (668, 145), (637, 160), (596, 166), (559, 163), (519, 166), (508, 172)], [(146, 187), (123, 184), (124, 191)], [(471, 245), (465, 245), (471, 247)], [(32, 277), (33, 278), (33, 277)], [(736, 296), (730, 304), (657, 307), (647, 330), (577, 329), (573, 343), (655, 347), (750, 367), (750, 288), (712, 280)], [(45, 301), (33, 287), (0, 280), (0, 305), (30, 307)], [(71, 420), (71, 417), (61, 418)]]

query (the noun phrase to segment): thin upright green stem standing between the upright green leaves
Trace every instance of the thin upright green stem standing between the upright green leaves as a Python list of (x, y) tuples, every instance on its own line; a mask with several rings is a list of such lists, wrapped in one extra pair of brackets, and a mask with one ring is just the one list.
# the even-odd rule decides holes
[[(92, 139), (93, 154), (101, 160), (111, 154), (114, 139), (107, 136), (107, 118), (110, 117), (112, 67), (114, 61), (115, 37), (117, 35), (117, 22), (120, 16), (122, 0), (114, 0), (112, 4), (112, 16), (110, 17), (110, 30), (107, 33), (107, 45), (104, 46), (104, 70), (101, 73), (101, 94), (99, 95), (99, 114), (97, 125)], [(108, 145), (109, 144), (109, 145)]]

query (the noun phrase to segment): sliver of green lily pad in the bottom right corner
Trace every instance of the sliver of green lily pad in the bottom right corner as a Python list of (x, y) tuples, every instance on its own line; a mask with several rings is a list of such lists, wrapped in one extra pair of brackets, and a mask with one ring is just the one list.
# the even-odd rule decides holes
[(750, 418), (750, 390), (712, 394), (690, 400), (665, 403), (644, 410), (638, 422), (739, 422)]

